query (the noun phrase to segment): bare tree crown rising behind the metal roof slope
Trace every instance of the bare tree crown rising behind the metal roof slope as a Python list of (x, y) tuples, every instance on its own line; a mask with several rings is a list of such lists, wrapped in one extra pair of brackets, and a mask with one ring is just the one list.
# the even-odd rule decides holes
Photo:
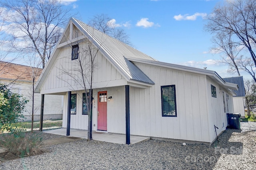
[(107, 14), (97, 14), (93, 16), (88, 24), (129, 46), (133, 46), (129, 40), (129, 35), (126, 34), (124, 29), (120, 28), (120, 25), (116, 24), (115, 20), (111, 19)]

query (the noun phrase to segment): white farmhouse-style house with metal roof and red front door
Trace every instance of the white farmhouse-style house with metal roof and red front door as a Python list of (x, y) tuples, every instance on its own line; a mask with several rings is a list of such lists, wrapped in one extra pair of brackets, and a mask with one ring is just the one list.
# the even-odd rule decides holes
[(92, 130), (126, 134), (126, 144), (130, 134), (212, 144), (214, 126), (218, 135), (226, 129), (237, 84), (225, 82), (214, 71), (159, 62), (71, 18), (36, 86), (42, 96), (64, 95), (62, 126), (67, 135), (70, 128), (88, 129), (84, 88), (63, 71), (79, 75), (75, 58), (82, 57), (80, 46), (88, 46), (86, 42), (99, 49), (92, 82)]

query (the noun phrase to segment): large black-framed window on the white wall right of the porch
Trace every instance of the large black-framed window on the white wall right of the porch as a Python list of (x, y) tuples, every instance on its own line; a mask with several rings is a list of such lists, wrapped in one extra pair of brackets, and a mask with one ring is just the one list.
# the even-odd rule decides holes
[(177, 117), (175, 85), (161, 86), (162, 116)]

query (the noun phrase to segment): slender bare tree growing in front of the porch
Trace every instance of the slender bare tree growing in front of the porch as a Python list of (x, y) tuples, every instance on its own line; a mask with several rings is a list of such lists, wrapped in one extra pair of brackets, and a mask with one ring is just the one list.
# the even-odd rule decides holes
[[(88, 26), (90, 31), (94, 32), (93, 28)], [(92, 120), (92, 81), (93, 73), (97, 66), (95, 58), (100, 50), (100, 46), (94, 46), (93, 33), (92, 36), (85, 36), (83, 39), (79, 39), (79, 31), (76, 30), (72, 33), (72, 39), (76, 39), (75, 42), (71, 42), (68, 37), (66, 40), (72, 48), (72, 67), (70, 69), (61, 66), (62, 74), (68, 75), (68, 79), (59, 77), (61, 80), (67, 82), (72, 90), (74, 87), (82, 87), (85, 91), (86, 98), (82, 98), (83, 102), (86, 103), (86, 108), (88, 108), (88, 134), (87, 140), (90, 141), (92, 138), (91, 120)], [(87, 34), (85, 34), (87, 35)], [(75, 45), (75, 48), (74, 48)], [(75, 84), (73, 85), (72, 82)]]

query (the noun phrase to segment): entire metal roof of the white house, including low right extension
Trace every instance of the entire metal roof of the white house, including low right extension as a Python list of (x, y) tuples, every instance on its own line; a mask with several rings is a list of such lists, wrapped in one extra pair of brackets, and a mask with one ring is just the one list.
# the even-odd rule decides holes
[[(70, 24), (74, 24), (74, 26), (76, 26), (76, 28), (78, 28), (78, 30), (82, 32), (83, 35), (81, 36), (81, 40), (82, 38), (88, 38), (89, 40), (91, 40), (93, 44), (100, 49), (102, 55), (106, 57), (106, 59), (116, 68), (116, 70), (118, 70), (118, 72), (120, 72), (120, 74), (128, 82), (135, 82), (137, 84), (143, 84), (147, 86), (152, 86), (154, 84), (154, 82), (144, 72), (142, 72), (142, 70), (140, 70), (132, 61), (144, 62), (148, 64), (208, 75), (210, 76), (210, 78), (216, 80), (218, 84), (230, 90), (232, 94), (236, 95), (234, 91), (231, 89), (237, 90), (237, 84), (225, 82), (214, 71), (159, 62), (156, 59), (74, 18), (70, 19), (69, 24), (64, 31), (64, 34), (62, 34), (62, 37), (60, 38), (58, 44), (56, 45), (56, 48), (54, 49), (53, 55), (51, 56), (50, 60), (48, 60), (46, 67), (44, 68), (43, 73), (40, 76), (40, 81), (38, 81), (38, 83), (36, 84), (35, 92), (40, 92), (40, 87), (42, 86), (44, 80), (46, 79), (48, 73), (50, 72), (50, 69), (54, 64), (52, 60), (55, 60), (57, 58), (58, 53), (60, 52), (60, 49), (62, 47), (68, 46), (68, 42), (66, 42), (64, 36), (68, 29), (71, 28), (69, 27), (71, 26)], [(77, 40), (75, 40), (74, 42), (72, 42), (72, 40), (70, 41), (71, 43), (77, 42)]]

